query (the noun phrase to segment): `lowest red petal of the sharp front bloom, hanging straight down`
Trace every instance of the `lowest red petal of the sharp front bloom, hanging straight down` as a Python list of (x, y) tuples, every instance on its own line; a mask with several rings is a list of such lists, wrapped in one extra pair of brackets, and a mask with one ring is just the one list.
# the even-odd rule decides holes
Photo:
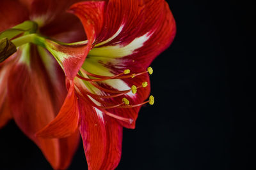
[(121, 157), (122, 127), (79, 99), (80, 132), (89, 170), (115, 169)]

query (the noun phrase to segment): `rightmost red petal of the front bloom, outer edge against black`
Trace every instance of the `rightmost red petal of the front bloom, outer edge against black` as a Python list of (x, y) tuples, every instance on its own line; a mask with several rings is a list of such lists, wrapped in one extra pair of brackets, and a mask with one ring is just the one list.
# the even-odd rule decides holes
[(132, 59), (132, 62), (135, 60), (144, 67), (148, 67), (152, 60), (172, 43), (176, 34), (176, 24), (172, 12), (164, 0), (144, 1), (147, 6), (145, 8), (146, 20), (141, 27), (139, 36), (146, 32), (154, 31), (154, 33), (129, 58)]

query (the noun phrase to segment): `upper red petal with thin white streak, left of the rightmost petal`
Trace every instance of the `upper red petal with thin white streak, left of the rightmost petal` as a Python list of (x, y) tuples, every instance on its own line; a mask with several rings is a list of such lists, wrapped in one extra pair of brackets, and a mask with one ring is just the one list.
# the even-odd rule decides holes
[[(127, 44), (136, 38), (145, 19), (145, 4), (143, 2), (143, 0), (109, 0), (104, 16), (104, 27), (97, 38), (97, 43), (115, 37), (105, 45), (116, 42)], [(122, 31), (116, 34), (121, 27)]]

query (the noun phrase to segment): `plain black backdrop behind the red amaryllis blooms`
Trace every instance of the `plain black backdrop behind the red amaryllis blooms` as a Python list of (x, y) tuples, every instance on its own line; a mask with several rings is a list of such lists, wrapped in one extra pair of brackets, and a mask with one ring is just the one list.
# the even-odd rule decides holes
[[(256, 169), (253, 1), (168, 3), (177, 36), (152, 63), (156, 104), (124, 129), (117, 169)], [(0, 169), (51, 169), (13, 122), (0, 135)], [(86, 169), (82, 146), (69, 169)]]

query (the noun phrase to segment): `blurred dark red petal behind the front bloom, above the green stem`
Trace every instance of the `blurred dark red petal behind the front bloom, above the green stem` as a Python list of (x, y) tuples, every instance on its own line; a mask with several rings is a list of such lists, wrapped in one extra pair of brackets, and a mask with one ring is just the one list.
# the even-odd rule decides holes
[[(58, 41), (70, 43), (86, 39), (79, 19), (67, 13), (68, 8), (79, 0), (34, 0), (29, 2), (30, 18), (40, 25), (40, 32)], [(80, 0), (81, 1), (81, 0)]]

